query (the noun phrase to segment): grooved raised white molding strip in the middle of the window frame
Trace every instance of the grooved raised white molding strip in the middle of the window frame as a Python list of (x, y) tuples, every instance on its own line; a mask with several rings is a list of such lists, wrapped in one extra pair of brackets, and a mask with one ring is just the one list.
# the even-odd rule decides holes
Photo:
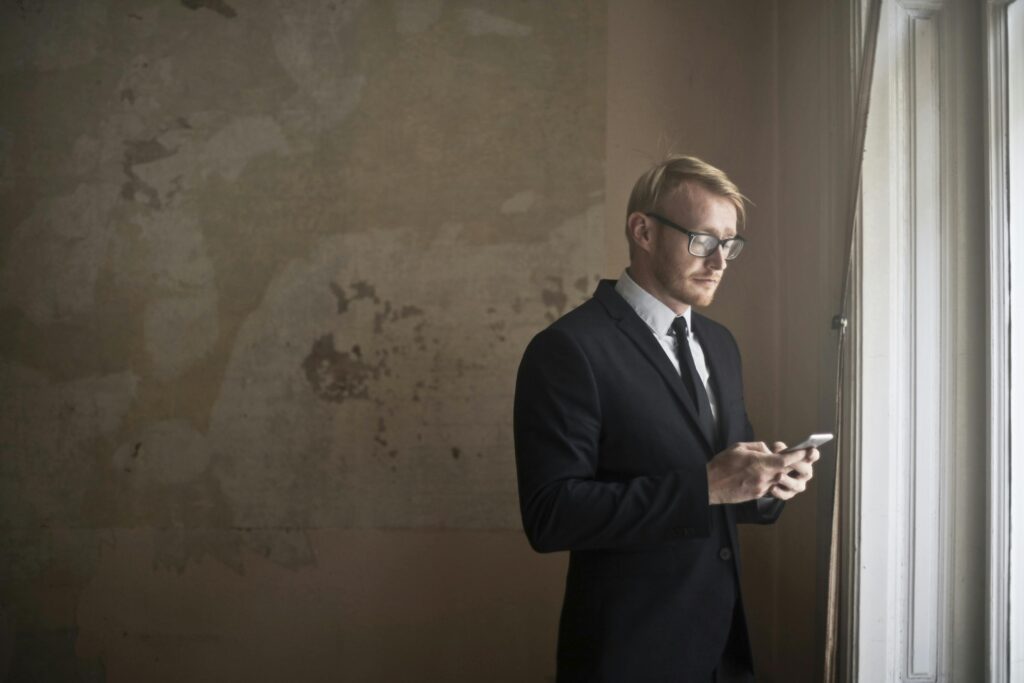
[[(943, 485), (950, 480), (950, 444), (954, 441), (952, 415), (955, 367), (952, 349), (954, 306), (950, 283), (955, 266), (946, 245), (949, 236), (948, 207), (952, 196), (947, 151), (952, 146), (951, 129), (944, 121), (946, 70), (941, 3), (900, 3), (897, 11), (898, 43), (903, 63), (894, 70), (898, 93), (896, 130), (906, 140), (900, 163), (906, 206), (902, 225), (906, 265), (898, 282), (900, 305), (906, 307), (906, 329), (894, 336), (904, 359), (904, 404), (906, 428), (900, 429), (905, 460), (900, 459), (899, 478), (906, 494), (900, 506), (899, 541), (903, 562), (892, 566), (900, 575), (905, 612), (900, 669), (906, 681), (937, 681), (945, 670), (946, 591), (949, 519), (945, 514), (954, 499)], [(902, 15), (901, 15), (902, 14)], [(899, 229), (899, 228), (897, 228)], [(955, 289), (953, 289), (955, 291)], [(905, 298), (904, 298), (905, 297)], [(938, 426), (938, 428), (936, 428)], [(941, 503), (941, 505), (940, 505)]]

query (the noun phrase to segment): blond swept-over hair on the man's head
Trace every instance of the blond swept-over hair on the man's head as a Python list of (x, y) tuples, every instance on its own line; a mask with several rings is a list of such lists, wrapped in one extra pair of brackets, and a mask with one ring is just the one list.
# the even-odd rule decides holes
[(736, 207), (736, 228), (742, 229), (746, 221), (744, 203), (750, 200), (743, 197), (736, 183), (724, 171), (696, 157), (683, 155), (669, 155), (637, 179), (630, 193), (626, 216), (629, 217), (634, 211), (658, 211), (662, 199), (687, 181), (699, 183), (709, 191), (732, 202)]

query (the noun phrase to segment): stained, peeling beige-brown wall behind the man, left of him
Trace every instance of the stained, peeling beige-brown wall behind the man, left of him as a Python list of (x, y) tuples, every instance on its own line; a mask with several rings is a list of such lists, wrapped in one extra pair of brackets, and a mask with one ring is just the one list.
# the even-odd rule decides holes
[(528, 338), (605, 265), (605, 7), (0, 7), (0, 679), (545, 680)]

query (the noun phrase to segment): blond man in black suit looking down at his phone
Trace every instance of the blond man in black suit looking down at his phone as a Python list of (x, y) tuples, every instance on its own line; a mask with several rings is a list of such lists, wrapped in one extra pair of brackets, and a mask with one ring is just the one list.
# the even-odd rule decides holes
[(516, 383), (523, 525), (569, 550), (558, 680), (752, 681), (736, 522), (771, 523), (816, 450), (754, 442), (739, 352), (712, 302), (743, 197), (673, 156), (630, 198), (630, 265), (541, 332)]

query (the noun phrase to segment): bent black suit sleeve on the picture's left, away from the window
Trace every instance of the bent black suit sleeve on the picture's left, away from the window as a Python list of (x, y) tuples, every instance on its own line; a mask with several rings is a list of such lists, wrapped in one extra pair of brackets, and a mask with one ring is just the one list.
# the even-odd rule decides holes
[(587, 550), (709, 533), (703, 466), (626, 480), (598, 477), (601, 401), (594, 369), (564, 332), (529, 344), (516, 381), (519, 505), (535, 550)]

